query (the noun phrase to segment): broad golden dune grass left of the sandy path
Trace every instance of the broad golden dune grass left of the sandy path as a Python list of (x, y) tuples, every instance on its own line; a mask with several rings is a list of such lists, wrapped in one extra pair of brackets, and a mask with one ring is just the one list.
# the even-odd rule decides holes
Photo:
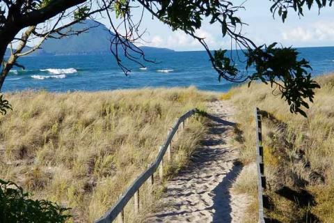
[[(213, 97), (194, 88), (8, 95), (0, 178), (73, 208), (76, 222), (93, 222), (154, 160), (175, 118)], [(169, 172), (186, 163), (203, 132), (202, 119), (191, 121)]]

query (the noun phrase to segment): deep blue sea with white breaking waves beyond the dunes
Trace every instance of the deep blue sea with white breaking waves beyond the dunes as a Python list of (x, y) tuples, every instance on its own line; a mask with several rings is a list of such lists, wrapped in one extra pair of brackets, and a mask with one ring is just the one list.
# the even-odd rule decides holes
[[(299, 48), (310, 61), (312, 75), (334, 71), (334, 47)], [(3, 91), (46, 89), (47, 91), (99, 91), (143, 87), (196, 86), (207, 91), (228, 91), (233, 83), (218, 82), (206, 52), (150, 54), (156, 63), (146, 70), (125, 62), (132, 69), (126, 77), (111, 55), (26, 56), (20, 59), (26, 70), (12, 70)], [(243, 68), (244, 65), (238, 65)], [(47, 70), (47, 69), (58, 70)], [(63, 69), (63, 70), (59, 70)]]

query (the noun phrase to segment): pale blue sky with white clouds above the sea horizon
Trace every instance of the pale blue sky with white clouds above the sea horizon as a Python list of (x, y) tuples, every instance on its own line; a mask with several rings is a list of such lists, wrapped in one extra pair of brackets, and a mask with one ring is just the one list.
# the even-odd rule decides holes
[[(234, 5), (241, 3), (233, 1)], [(324, 8), (319, 15), (317, 6), (304, 12), (304, 17), (299, 17), (293, 10), (289, 11), (287, 20), (282, 22), (280, 17), (270, 13), (272, 1), (248, 0), (244, 3), (245, 10), (238, 15), (248, 26), (244, 26), (243, 33), (257, 45), (278, 42), (285, 47), (320, 47), (334, 45), (333, 8)], [(134, 18), (139, 17), (139, 11), (134, 12)], [(107, 21), (102, 23), (108, 24)], [(149, 13), (145, 13), (142, 29), (147, 29), (143, 36), (147, 42), (145, 45), (152, 47), (166, 47), (177, 51), (203, 50), (202, 46), (187, 36), (182, 31), (172, 31), (170, 27), (157, 19), (152, 19)], [(228, 48), (230, 39), (223, 38), (218, 24), (205, 22), (201, 29), (196, 31), (198, 36), (205, 38), (210, 49)]]

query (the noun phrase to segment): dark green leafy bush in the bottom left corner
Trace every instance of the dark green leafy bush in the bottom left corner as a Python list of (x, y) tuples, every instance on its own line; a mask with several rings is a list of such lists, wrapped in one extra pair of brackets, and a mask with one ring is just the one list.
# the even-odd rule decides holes
[(29, 199), (13, 182), (0, 180), (0, 222), (65, 222), (70, 215), (66, 215), (68, 208), (45, 200)]

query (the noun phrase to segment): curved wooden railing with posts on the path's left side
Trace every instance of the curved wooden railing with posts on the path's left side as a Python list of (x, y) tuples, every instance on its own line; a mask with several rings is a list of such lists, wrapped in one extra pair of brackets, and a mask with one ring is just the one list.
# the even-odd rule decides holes
[(182, 126), (182, 129), (184, 128), (185, 121), (193, 116), (194, 114), (198, 113), (198, 109), (192, 109), (189, 112), (186, 112), (186, 114), (182, 115), (180, 118), (177, 119), (175, 122), (175, 125), (173, 128), (170, 128), (168, 130), (168, 136), (164, 144), (160, 147), (158, 156), (156, 160), (150, 164), (148, 169), (146, 169), (136, 180), (134, 180), (134, 183), (130, 185), (124, 194), (118, 199), (118, 201), (113, 205), (107, 213), (101, 217), (99, 220), (96, 221), (96, 223), (110, 223), (113, 222), (113, 220), (116, 220), (116, 217), (119, 216), (120, 222), (124, 222), (124, 208), (129, 202), (132, 197), (134, 197), (134, 213), (138, 214), (139, 208), (140, 208), (140, 202), (139, 202), (139, 189), (141, 186), (146, 182), (146, 180), (149, 180), (150, 185), (154, 184), (154, 172), (157, 171), (159, 167), (159, 178), (162, 180), (164, 176), (164, 155), (166, 154), (167, 161), (169, 162), (171, 160), (171, 148), (172, 148), (172, 140), (175, 135), (175, 133), (178, 133), (180, 125)]

